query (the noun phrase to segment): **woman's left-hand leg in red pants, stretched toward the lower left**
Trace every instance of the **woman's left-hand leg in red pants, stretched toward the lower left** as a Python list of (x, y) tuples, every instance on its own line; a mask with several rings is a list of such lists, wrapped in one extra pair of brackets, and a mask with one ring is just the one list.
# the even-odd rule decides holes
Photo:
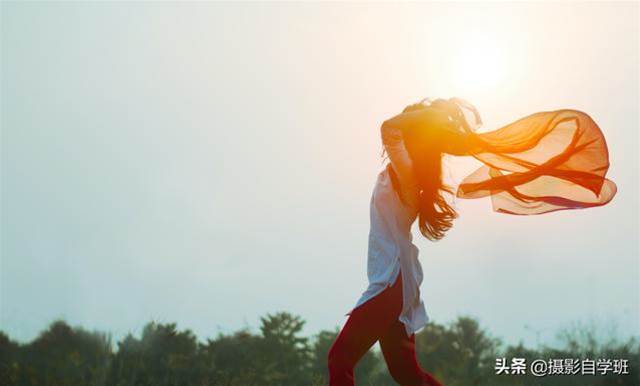
[(353, 368), (402, 310), (402, 275), (384, 291), (351, 311), (328, 355), (329, 386), (353, 386)]

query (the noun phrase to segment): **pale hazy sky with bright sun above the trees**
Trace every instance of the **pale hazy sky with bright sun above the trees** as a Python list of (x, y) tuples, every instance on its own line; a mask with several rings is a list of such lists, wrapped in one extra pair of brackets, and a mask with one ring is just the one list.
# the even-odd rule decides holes
[[(430, 319), (506, 343), (640, 334), (639, 12), (628, 3), (14, 3), (1, 9), (0, 330), (198, 337), (366, 289), (380, 124), (459, 96), (493, 130), (572, 108), (618, 185), (541, 216), (454, 201), (419, 237)], [(479, 166), (447, 158), (451, 183)]]

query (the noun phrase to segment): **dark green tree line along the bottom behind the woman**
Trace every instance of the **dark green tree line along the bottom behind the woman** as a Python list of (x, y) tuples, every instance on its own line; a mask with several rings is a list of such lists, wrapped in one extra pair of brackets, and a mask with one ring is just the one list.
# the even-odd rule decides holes
[[(312, 337), (304, 320), (288, 312), (260, 318), (259, 332), (241, 329), (199, 341), (174, 323), (148, 323), (140, 337), (114, 344), (109, 334), (55, 321), (29, 343), (0, 331), (0, 384), (4, 386), (321, 386), (327, 385), (326, 358), (338, 329)], [(636, 386), (640, 347), (627, 341), (598, 342), (595, 331), (560, 334), (562, 349), (504, 345), (478, 321), (459, 317), (429, 324), (416, 334), (418, 360), (447, 386)], [(628, 374), (496, 374), (500, 358), (526, 363), (552, 358), (609, 358), (628, 361)], [(358, 363), (356, 383), (396, 385), (382, 354), (370, 350)]]

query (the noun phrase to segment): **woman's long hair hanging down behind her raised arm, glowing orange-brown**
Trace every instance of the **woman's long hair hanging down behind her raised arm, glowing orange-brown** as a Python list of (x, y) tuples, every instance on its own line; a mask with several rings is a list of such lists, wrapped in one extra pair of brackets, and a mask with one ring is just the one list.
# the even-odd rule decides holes
[[(450, 108), (447, 101), (438, 99), (430, 106)], [(403, 112), (426, 108), (423, 104), (408, 106)], [(456, 210), (447, 202), (445, 193), (454, 194), (451, 187), (442, 182), (442, 157), (445, 143), (437, 130), (407, 131), (404, 144), (413, 165), (418, 184), (418, 224), (420, 233), (431, 241), (444, 237), (458, 217)], [(395, 177), (395, 176), (393, 176)], [(394, 182), (395, 178), (392, 178)], [(396, 179), (397, 181), (397, 179)], [(397, 185), (397, 183), (396, 183)]]

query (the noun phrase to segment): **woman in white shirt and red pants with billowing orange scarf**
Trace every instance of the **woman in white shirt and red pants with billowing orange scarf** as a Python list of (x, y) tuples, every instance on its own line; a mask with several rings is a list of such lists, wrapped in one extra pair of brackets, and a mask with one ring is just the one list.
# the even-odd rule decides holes
[(389, 163), (378, 174), (370, 205), (369, 286), (328, 355), (329, 385), (353, 385), (353, 369), (376, 342), (400, 385), (441, 385), (420, 368), (415, 333), (428, 321), (419, 287), (423, 274), (411, 226), (441, 239), (456, 211), (444, 193), (443, 154), (470, 155), (485, 165), (465, 178), (457, 196), (491, 196), (497, 212), (540, 214), (608, 203), (615, 184), (602, 132), (576, 110), (540, 112), (477, 134), (481, 119), (468, 102), (422, 101), (382, 124)]

